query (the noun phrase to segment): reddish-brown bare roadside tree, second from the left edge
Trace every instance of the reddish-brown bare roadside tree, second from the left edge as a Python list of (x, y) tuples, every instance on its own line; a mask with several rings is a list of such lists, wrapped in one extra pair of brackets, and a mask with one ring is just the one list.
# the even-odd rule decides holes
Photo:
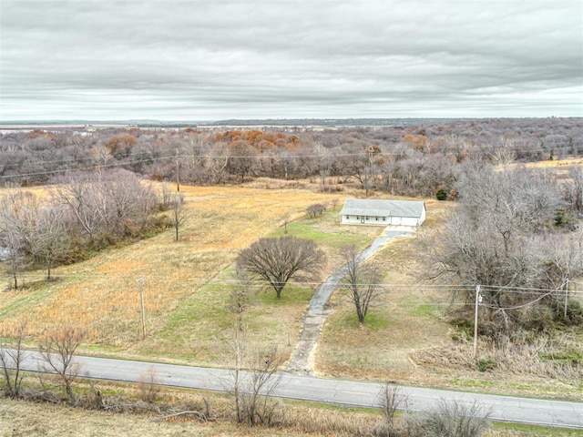
[(66, 325), (60, 330), (49, 332), (39, 345), (39, 351), (46, 363), (46, 371), (55, 372), (65, 388), (66, 395), (76, 402), (73, 384), (80, 375), (81, 366), (75, 361), (75, 352), (85, 338), (85, 330)]

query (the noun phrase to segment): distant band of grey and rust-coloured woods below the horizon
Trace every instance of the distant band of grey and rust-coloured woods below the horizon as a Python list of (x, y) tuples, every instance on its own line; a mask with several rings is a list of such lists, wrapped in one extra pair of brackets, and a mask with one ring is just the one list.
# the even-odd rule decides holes
[(393, 127), (266, 130), (98, 129), (0, 134), (0, 183), (38, 185), (70, 170), (125, 168), (196, 185), (251, 178), (319, 181), (409, 196), (455, 197), (455, 168), (581, 156), (580, 118), (417, 120)]

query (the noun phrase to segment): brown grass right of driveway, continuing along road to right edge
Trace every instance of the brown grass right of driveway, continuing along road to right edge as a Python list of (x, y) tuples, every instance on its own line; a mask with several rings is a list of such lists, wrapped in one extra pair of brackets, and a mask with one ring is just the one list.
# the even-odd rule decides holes
[[(424, 232), (438, 232), (452, 207), (427, 202)], [(423, 266), (417, 239), (397, 239), (373, 257), (383, 267), (388, 294), (359, 326), (353, 304), (341, 293), (332, 295), (332, 316), (322, 330), (316, 371), (322, 375), (395, 381), (526, 396), (581, 399), (580, 366), (557, 368), (541, 362), (540, 344), (501, 348), (480, 343), (479, 359), (496, 361), (496, 369), (479, 371), (472, 342), (454, 340), (445, 317), (448, 293), (421, 281)], [(400, 285), (404, 284), (403, 287)], [(418, 284), (418, 285), (415, 285)], [(573, 332), (573, 339), (580, 341)], [(569, 339), (563, 349), (576, 343)], [(555, 339), (555, 347), (563, 344)], [(575, 340), (577, 341), (577, 340)], [(559, 348), (560, 349), (560, 348)]]

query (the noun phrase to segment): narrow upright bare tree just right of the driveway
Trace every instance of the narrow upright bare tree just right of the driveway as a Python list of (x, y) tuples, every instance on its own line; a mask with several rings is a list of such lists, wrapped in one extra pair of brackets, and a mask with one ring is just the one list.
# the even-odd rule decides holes
[(349, 246), (343, 249), (346, 274), (341, 288), (354, 304), (359, 323), (364, 323), (368, 309), (381, 293), (381, 272), (371, 264), (363, 263), (358, 249)]

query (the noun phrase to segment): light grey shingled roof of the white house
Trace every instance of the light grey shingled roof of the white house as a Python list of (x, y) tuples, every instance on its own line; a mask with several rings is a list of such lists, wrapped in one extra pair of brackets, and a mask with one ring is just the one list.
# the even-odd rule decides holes
[(424, 202), (419, 200), (347, 198), (340, 214), (346, 216), (363, 215), (421, 218), (424, 208)]

